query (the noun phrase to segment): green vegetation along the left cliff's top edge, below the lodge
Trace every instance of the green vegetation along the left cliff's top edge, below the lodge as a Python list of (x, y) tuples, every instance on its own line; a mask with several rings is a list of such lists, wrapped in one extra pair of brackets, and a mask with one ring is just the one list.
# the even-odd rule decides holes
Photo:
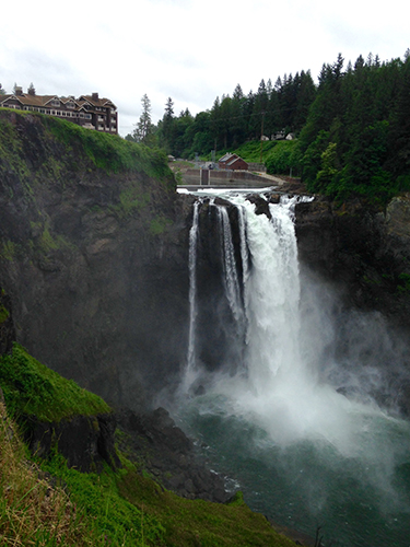
[[(117, 135), (84, 129), (52, 116), (7, 108), (0, 108), (0, 173), (2, 168), (25, 185), (28, 193), (32, 191), (30, 178), (44, 184), (59, 178), (67, 168), (89, 173), (93, 170), (140, 173), (167, 189), (175, 188), (174, 175), (161, 150), (129, 142)], [(12, 191), (11, 186), (9, 190)]]

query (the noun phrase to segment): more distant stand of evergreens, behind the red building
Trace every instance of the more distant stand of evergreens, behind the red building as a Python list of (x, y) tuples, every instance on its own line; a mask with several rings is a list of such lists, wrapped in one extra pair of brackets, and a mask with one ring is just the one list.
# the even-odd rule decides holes
[(192, 116), (189, 109), (174, 113), (174, 103), (168, 97), (163, 118), (149, 133), (141, 129), (143, 119), (150, 115), (147, 95), (142, 97), (142, 115), (129, 140), (159, 146), (174, 156), (194, 158), (206, 155), (211, 150), (234, 149), (247, 140), (269, 138), (280, 131), (298, 132), (308, 108), (315, 98), (316, 86), (311, 72), (284, 74), (274, 85), (261, 80), (258, 91), (245, 95), (237, 84), (231, 95), (216, 97), (212, 108)]

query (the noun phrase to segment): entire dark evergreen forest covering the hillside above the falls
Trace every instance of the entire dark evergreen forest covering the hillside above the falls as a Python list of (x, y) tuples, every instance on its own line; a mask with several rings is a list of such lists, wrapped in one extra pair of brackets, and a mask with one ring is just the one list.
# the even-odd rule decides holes
[[(147, 95), (143, 108), (150, 118)], [(296, 142), (281, 148), (280, 161), (273, 153), (267, 159), (268, 172), (292, 170), (308, 190), (338, 199), (358, 195), (383, 202), (409, 190), (410, 50), (383, 62), (377, 55), (359, 56), (347, 66), (339, 54), (323, 65), (317, 83), (302, 71), (274, 85), (261, 80), (247, 95), (237, 84), (232, 96), (216, 97), (196, 116), (188, 109), (176, 116), (168, 97), (157, 125), (150, 120), (147, 130), (141, 116), (127, 138), (194, 158), (289, 132)]]

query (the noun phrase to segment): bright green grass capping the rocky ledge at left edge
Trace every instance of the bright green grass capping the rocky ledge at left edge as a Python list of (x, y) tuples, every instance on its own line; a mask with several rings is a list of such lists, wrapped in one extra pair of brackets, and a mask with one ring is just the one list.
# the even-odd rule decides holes
[(13, 416), (35, 415), (40, 421), (58, 422), (110, 411), (101, 397), (63, 379), (16, 344), (11, 354), (0, 358), (0, 386)]

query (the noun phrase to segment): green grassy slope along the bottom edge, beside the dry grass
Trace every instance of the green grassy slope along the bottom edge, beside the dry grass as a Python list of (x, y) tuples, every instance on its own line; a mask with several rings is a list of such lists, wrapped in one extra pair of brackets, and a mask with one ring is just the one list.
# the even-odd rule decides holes
[(138, 473), (125, 458), (122, 463), (122, 469), (106, 468), (99, 475), (68, 469), (58, 455), (42, 464), (66, 485), (71, 501), (84, 508), (95, 545), (104, 538), (110, 546), (125, 547), (294, 547), (263, 515), (251, 512), (241, 494), (227, 504), (186, 500)]

